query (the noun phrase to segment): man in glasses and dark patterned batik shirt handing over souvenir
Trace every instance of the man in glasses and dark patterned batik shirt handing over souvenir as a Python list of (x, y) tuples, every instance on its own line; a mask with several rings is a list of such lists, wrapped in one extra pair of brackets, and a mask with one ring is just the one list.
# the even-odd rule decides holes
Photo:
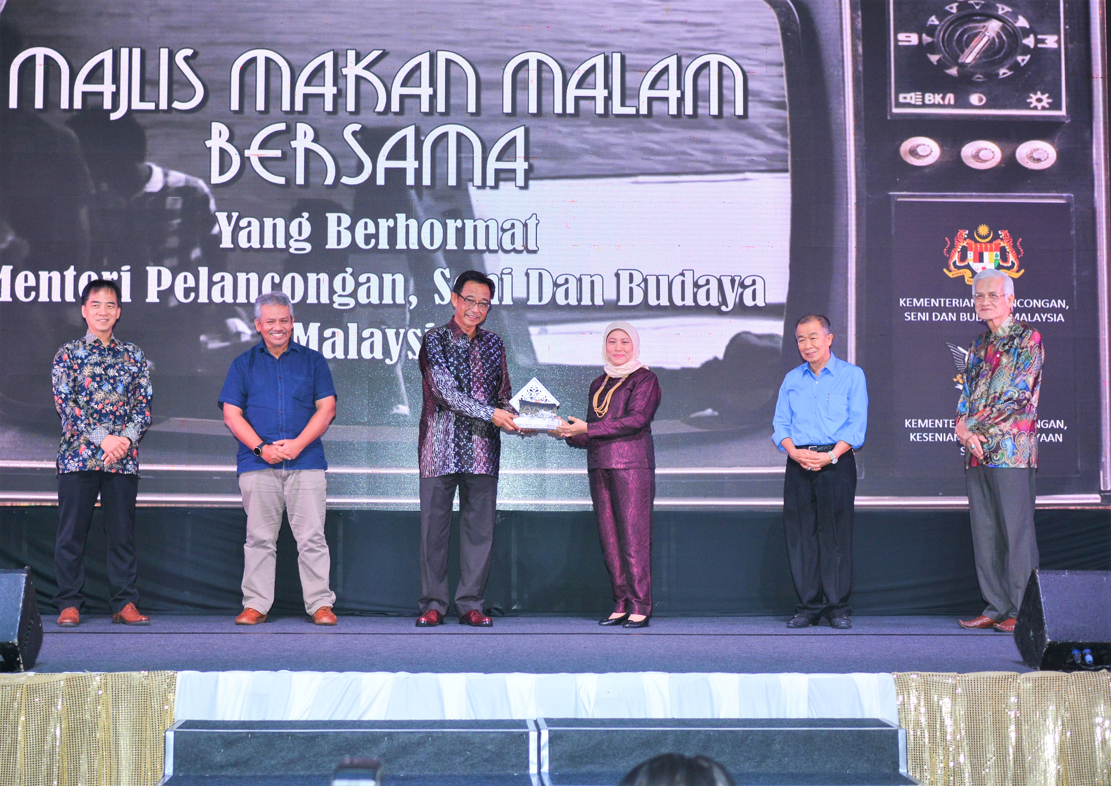
[(451, 292), (454, 316), (430, 330), (419, 363), (424, 403), (417, 461), (420, 464), (420, 578), (418, 627), (443, 623), (448, 613), (448, 537), (459, 488), (459, 563), (456, 612), (463, 625), (489, 627), (482, 594), (498, 512), (501, 433), (519, 431), (510, 406), (506, 345), (479, 325), (486, 321), (494, 283), (468, 270)]

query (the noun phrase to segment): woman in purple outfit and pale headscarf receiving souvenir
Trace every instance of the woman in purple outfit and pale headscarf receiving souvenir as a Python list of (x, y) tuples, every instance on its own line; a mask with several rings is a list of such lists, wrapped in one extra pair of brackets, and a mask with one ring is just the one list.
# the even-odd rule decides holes
[(660, 382), (640, 362), (640, 335), (628, 322), (605, 329), (602, 356), (605, 373), (590, 385), (587, 420), (569, 417), (558, 433), (567, 444), (587, 449), (590, 496), (613, 581), (613, 614), (599, 624), (647, 627), (655, 498), (652, 417)]

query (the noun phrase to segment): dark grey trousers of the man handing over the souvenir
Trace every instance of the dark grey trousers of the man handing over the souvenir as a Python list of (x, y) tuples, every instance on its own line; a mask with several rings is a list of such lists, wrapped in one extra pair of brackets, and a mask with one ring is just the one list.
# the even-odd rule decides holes
[(448, 538), (459, 488), (459, 566), (456, 612), (482, 611), (498, 515), (498, 478), (458, 472), (420, 478), (420, 613), (448, 613)]

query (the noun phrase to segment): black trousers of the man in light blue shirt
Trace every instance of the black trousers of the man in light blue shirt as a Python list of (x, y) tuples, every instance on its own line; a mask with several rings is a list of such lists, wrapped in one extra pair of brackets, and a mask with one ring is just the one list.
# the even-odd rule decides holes
[(851, 614), (852, 515), (857, 460), (847, 451), (818, 472), (787, 460), (783, 530), (799, 614), (811, 621)]

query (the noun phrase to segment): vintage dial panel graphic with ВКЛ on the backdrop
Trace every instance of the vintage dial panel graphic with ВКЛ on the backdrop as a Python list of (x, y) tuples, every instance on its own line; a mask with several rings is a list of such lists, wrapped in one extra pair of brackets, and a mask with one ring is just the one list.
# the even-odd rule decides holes
[(1061, 0), (889, 0), (891, 114), (1065, 114)]

